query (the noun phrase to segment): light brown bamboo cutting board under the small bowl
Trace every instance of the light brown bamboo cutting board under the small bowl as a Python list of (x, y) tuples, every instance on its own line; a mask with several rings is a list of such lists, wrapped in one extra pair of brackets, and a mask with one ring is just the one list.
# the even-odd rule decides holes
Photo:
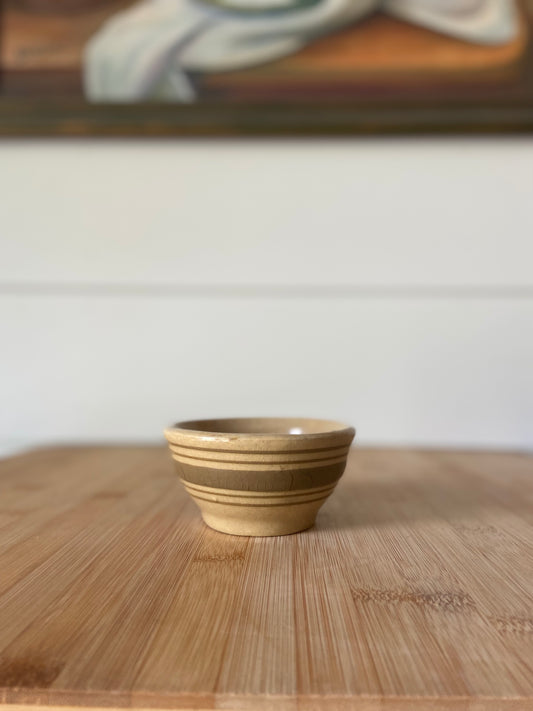
[[(354, 450), (305, 533), (206, 528), (159, 448), (0, 463), (15, 709), (533, 709), (533, 457)], [(12, 706), (10, 706), (12, 705)]]

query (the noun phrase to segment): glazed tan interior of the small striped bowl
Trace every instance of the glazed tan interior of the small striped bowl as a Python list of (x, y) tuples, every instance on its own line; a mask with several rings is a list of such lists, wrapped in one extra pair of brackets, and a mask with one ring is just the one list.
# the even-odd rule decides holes
[(178, 422), (178, 429), (209, 434), (313, 435), (342, 432), (348, 425), (307, 417), (230, 417), (217, 420)]

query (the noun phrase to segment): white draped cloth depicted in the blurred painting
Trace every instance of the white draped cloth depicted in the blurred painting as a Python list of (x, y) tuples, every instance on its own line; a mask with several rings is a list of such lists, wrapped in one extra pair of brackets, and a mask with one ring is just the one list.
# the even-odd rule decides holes
[(141, 0), (117, 13), (84, 53), (90, 101), (194, 101), (191, 72), (252, 67), (383, 10), (471, 42), (517, 32), (512, 0)]

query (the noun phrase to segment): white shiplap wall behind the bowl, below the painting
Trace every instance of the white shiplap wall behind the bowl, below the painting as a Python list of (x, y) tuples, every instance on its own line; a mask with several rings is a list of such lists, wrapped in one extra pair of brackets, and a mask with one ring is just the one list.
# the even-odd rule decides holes
[(533, 142), (0, 143), (0, 449), (223, 414), (533, 448)]

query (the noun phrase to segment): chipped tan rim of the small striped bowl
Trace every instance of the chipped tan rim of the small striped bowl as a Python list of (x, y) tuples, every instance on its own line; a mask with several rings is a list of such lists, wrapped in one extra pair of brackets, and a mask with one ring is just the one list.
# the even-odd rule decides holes
[[(329, 428), (324, 428), (319, 432), (245, 432), (242, 430), (235, 431), (217, 431), (213, 429), (202, 429), (202, 423), (223, 422), (223, 421), (251, 421), (251, 420), (270, 420), (270, 421), (294, 421), (294, 426), (298, 423), (305, 422), (320, 422)], [(191, 427), (197, 425), (198, 427)], [(324, 437), (350, 436), (355, 437), (356, 430), (351, 425), (348, 425), (339, 420), (329, 420), (317, 417), (214, 417), (209, 419), (181, 420), (174, 425), (165, 429), (166, 435), (183, 435), (188, 437), (200, 437), (202, 439), (265, 439), (265, 440), (317, 440)]]

